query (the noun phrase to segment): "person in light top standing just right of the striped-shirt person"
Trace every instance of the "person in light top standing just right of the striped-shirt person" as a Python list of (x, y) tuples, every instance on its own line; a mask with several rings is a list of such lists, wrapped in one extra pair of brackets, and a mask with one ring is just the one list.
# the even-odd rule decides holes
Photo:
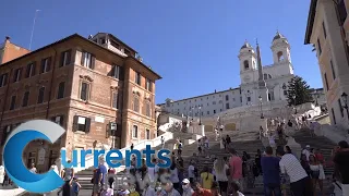
[(309, 166), (311, 169), (311, 177), (313, 182), (313, 192), (316, 194), (316, 184), (318, 184), (320, 191), (323, 196), (325, 196), (325, 192), (323, 191), (323, 180), (326, 179), (323, 166), (316, 160), (314, 155), (309, 156)]

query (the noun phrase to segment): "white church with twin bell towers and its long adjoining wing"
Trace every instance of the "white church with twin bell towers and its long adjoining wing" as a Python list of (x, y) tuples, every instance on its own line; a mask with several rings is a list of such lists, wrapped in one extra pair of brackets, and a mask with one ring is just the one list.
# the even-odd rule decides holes
[(176, 115), (212, 117), (261, 102), (285, 102), (286, 106), (288, 82), (293, 77), (291, 48), (287, 38), (277, 32), (270, 49), (273, 64), (262, 65), (258, 45), (255, 50), (248, 41), (244, 42), (238, 56), (241, 78), (239, 87), (182, 100), (167, 99), (159, 107)]

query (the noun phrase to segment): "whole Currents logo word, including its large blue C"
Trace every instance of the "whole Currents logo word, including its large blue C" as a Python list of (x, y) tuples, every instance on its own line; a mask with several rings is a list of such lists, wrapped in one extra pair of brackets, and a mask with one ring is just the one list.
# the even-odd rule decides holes
[[(64, 181), (53, 170), (43, 174), (32, 173), (24, 166), (22, 154), (29, 142), (34, 139), (45, 139), (55, 143), (64, 132), (65, 130), (60, 125), (46, 120), (28, 121), (11, 132), (3, 147), (3, 164), (10, 179), (20, 187), (33, 193), (48, 193), (61, 187)], [(98, 167), (98, 157), (103, 156), (105, 150), (73, 150), (72, 154), (73, 161), (68, 163), (65, 150), (61, 150), (61, 160), (64, 168), (77, 167), (77, 154), (81, 156), (81, 167), (85, 167), (85, 156), (88, 154), (93, 154), (94, 167)], [(152, 150), (149, 145), (143, 150), (147, 167), (155, 167), (155, 164), (151, 162), (152, 155), (154, 154), (155, 150)], [(171, 160), (166, 157), (169, 154), (170, 150), (167, 149), (161, 149), (157, 152), (157, 157), (165, 161), (157, 164), (159, 168), (168, 168), (171, 164)], [(125, 161), (125, 166), (130, 167), (131, 155), (136, 156), (136, 167), (140, 167), (142, 157), (140, 150), (125, 150), (125, 157), (122, 156), (120, 150), (109, 150), (106, 155), (106, 162), (111, 168), (118, 168), (122, 166), (119, 161)]]

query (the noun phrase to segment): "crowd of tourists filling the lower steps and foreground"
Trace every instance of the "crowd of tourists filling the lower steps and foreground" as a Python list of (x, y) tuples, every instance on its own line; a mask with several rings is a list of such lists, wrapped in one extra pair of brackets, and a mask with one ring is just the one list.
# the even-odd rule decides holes
[[(279, 138), (286, 137), (284, 133), (286, 125), (292, 126), (292, 122), (277, 125), (276, 134)], [(121, 185), (115, 176), (116, 170), (101, 162), (94, 170), (91, 180), (92, 196), (243, 196), (243, 194), (255, 194), (255, 180), (258, 176), (263, 179), (265, 196), (286, 196), (288, 192), (294, 196), (315, 196), (318, 193), (325, 196), (327, 191), (324, 181), (328, 176), (325, 175), (324, 169), (332, 166), (335, 167), (333, 192), (336, 196), (349, 195), (347, 142), (340, 142), (334, 148), (332, 159), (325, 160), (321, 149), (306, 145), (298, 156), (289, 146), (276, 144), (272, 136), (268, 137), (269, 146), (263, 150), (256, 149), (254, 157), (246, 151), (234, 150), (234, 144), (229, 135), (220, 138), (227, 156), (209, 155), (209, 139), (202, 137), (197, 140), (197, 152), (190, 157), (186, 164), (182, 158), (185, 147), (178, 138), (173, 145), (169, 168), (157, 167), (161, 160), (156, 157), (152, 159), (152, 163), (155, 164), (155, 168), (152, 168), (146, 166), (145, 159), (133, 156), (125, 176), (128, 180), (136, 181), (128, 181)], [(163, 140), (161, 146), (163, 148), (165, 146)], [(140, 160), (141, 167), (136, 167)], [(63, 196), (77, 196), (81, 185), (73, 169), (63, 169), (61, 176), (65, 184), (60, 193)]]

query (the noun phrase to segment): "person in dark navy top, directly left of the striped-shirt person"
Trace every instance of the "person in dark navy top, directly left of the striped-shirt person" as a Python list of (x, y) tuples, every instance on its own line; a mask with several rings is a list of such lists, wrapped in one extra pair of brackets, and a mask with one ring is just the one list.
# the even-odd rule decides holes
[(265, 157), (262, 157), (261, 164), (264, 171), (263, 184), (265, 196), (281, 196), (280, 188), (280, 159), (273, 156), (273, 148), (265, 148)]

